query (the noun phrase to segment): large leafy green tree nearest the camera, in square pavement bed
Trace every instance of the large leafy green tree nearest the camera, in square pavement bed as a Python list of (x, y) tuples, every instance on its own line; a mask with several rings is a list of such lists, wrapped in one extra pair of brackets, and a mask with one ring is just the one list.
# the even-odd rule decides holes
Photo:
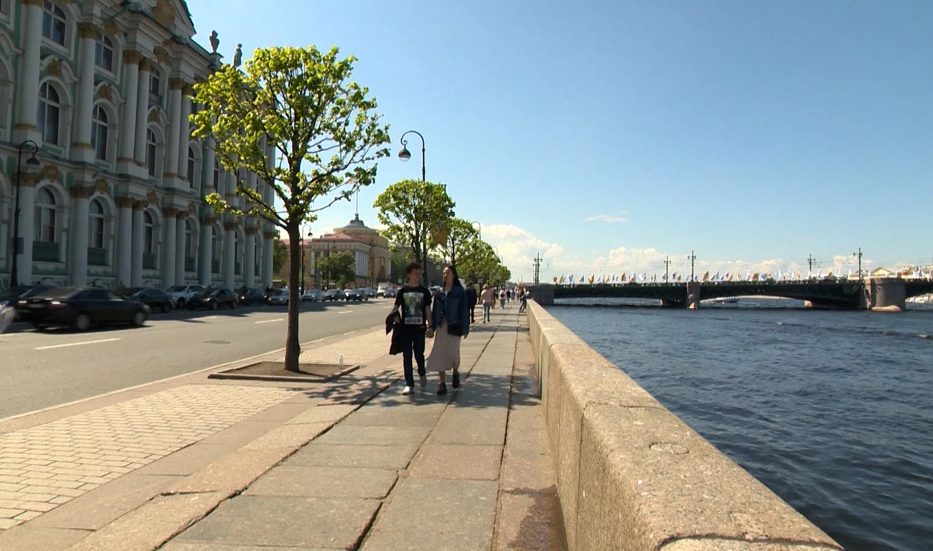
[[(299, 280), (300, 225), (340, 200), (350, 200), (376, 177), (375, 161), (389, 154), (388, 126), (375, 113), (369, 89), (350, 78), (355, 57), (339, 49), (257, 49), (243, 70), (226, 65), (195, 85), (203, 106), (191, 116), (193, 134), (213, 136), (216, 158), (232, 174), (255, 173), (271, 187), (262, 193), (238, 178), (226, 197), (205, 200), (218, 212), (258, 216), (285, 230), (289, 281)], [(278, 162), (269, 162), (268, 149)], [(218, 190), (219, 191), (219, 190)], [(238, 207), (231, 192), (245, 196)], [(323, 199), (322, 205), (315, 201)], [(239, 202), (234, 202), (239, 203)], [(285, 369), (298, 371), (298, 286), (289, 287)]]

